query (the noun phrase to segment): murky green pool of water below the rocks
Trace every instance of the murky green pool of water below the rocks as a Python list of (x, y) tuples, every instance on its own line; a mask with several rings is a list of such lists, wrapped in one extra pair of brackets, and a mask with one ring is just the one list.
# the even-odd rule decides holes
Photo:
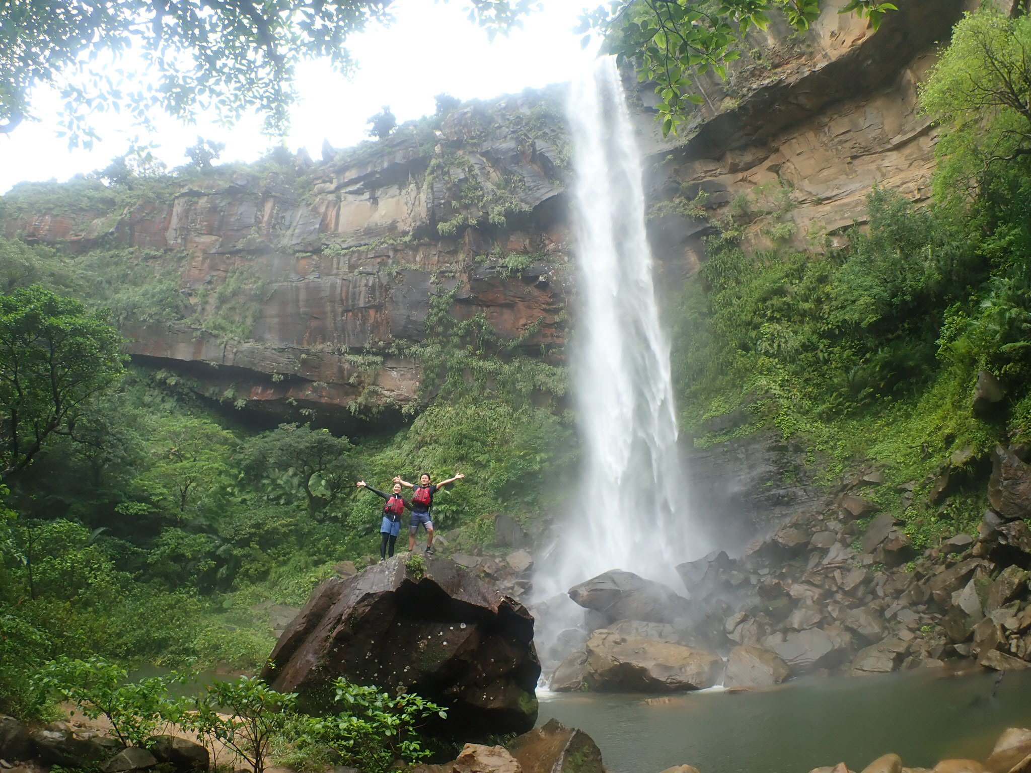
[(941, 677), (909, 672), (793, 682), (728, 695), (538, 694), (540, 722), (586, 731), (612, 773), (807, 773), (824, 765), (862, 770), (894, 751), (906, 767), (984, 760), (1009, 727), (1031, 728), (1031, 671)]

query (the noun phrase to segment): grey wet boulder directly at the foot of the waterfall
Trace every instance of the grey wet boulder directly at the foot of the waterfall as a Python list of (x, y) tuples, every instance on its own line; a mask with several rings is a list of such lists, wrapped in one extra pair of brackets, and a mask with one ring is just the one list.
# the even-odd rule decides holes
[(617, 569), (573, 585), (569, 598), (612, 620), (648, 623), (672, 623), (683, 616), (687, 604), (671, 587)]

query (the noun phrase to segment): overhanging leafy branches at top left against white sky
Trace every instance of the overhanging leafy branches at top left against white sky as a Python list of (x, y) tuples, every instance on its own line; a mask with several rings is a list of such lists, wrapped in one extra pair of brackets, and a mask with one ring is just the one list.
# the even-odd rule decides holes
[[(470, 16), (492, 33), (531, 0), (471, 0)], [(141, 124), (156, 111), (184, 120), (214, 108), (232, 121), (257, 109), (284, 133), (297, 64), (325, 58), (340, 72), (344, 43), (390, 0), (15, 0), (0, 3), (0, 132), (32, 116), (43, 85), (65, 100), (73, 143), (95, 137), (89, 114), (126, 110)], [(134, 51), (157, 76), (141, 88), (120, 55)], [(113, 65), (111, 58), (113, 57)], [(144, 81), (145, 82), (145, 81)]]

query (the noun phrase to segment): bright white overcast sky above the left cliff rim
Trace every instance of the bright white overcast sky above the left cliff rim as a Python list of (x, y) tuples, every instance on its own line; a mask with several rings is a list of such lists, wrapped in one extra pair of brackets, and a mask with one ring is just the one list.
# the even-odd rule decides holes
[[(334, 147), (353, 145), (366, 139), (365, 122), (384, 104), (403, 123), (433, 112), (433, 97), (441, 92), (466, 100), (568, 80), (592, 56), (591, 51), (581, 51), (579, 35), (571, 28), (580, 11), (597, 6), (598, 0), (543, 0), (543, 10), (528, 16), (522, 29), (490, 42), (466, 19), (462, 0), (395, 0), (393, 25), (370, 28), (351, 39), (360, 69), (350, 81), (319, 62), (299, 70), (301, 98), (293, 111), (288, 147), (307, 147), (319, 159), (323, 139)], [(45, 119), (0, 135), (0, 193), (23, 180), (65, 180), (103, 168), (140, 133), (124, 117), (100, 114), (95, 125), (103, 140), (90, 152), (69, 152), (67, 141), (56, 136), (60, 104), (56, 94), (40, 93), (34, 109)], [(169, 167), (186, 163), (182, 152), (198, 134), (226, 143), (222, 161), (253, 161), (273, 144), (261, 134), (258, 116), (232, 128), (207, 121), (185, 125), (162, 119), (157, 124), (155, 134), (141, 138), (158, 143), (154, 153)]]

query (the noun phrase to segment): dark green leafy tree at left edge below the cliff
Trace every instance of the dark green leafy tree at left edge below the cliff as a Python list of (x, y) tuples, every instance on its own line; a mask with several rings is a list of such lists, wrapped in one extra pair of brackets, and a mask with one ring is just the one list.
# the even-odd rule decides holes
[(101, 312), (34, 284), (0, 296), (0, 476), (23, 469), (123, 372)]

